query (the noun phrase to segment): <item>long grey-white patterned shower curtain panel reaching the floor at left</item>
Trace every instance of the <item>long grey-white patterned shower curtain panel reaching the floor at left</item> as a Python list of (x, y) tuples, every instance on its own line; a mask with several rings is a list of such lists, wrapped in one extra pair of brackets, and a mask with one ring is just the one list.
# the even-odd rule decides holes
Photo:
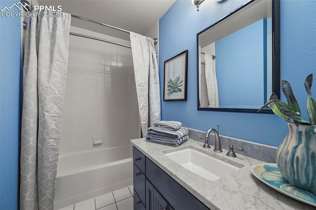
[(28, 24), (23, 65), (20, 209), (53, 210), (71, 15)]

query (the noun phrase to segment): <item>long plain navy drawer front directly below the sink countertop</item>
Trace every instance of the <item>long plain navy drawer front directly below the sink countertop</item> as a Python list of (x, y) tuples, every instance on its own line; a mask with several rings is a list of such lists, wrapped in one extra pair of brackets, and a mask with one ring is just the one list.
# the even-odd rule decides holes
[(146, 158), (146, 177), (175, 210), (209, 210), (194, 195), (148, 158)]

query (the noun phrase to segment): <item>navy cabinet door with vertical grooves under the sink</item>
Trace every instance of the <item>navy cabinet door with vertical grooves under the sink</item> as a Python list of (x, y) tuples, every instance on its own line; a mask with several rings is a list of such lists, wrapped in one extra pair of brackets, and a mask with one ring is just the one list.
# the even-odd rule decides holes
[(146, 210), (167, 210), (168, 203), (146, 179)]

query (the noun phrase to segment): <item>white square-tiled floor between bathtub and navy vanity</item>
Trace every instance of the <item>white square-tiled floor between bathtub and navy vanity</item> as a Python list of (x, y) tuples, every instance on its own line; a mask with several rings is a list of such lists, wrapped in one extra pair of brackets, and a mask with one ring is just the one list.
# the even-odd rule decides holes
[(133, 210), (133, 185), (60, 210)]

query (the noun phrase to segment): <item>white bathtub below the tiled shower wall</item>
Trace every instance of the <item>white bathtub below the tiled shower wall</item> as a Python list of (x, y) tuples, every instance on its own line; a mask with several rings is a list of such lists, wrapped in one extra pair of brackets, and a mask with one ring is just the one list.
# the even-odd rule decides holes
[(132, 146), (59, 157), (54, 209), (133, 184)]

